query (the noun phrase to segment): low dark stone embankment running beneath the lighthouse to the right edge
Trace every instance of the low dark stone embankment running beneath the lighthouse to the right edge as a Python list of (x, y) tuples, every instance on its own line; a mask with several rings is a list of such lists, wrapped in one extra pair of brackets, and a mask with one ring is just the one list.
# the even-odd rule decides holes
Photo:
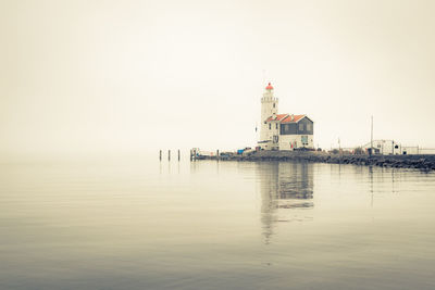
[(237, 161), (302, 161), (435, 171), (435, 155), (340, 155), (325, 152), (259, 151), (231, 155)]

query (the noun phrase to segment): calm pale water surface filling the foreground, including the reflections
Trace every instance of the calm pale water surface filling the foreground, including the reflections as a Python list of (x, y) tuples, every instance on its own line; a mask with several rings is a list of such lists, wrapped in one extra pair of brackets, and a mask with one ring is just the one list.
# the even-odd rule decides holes
[(0, 289), (435, 289), (435, 174), (0, 164)]

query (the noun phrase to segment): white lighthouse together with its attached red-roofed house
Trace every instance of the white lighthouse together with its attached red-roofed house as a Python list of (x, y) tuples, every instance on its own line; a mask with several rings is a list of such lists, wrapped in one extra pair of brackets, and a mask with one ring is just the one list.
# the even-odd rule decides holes
[(263, 150), (313, 149), (314, 123), (307, 115), (278, 114), (278, 98), (271, 83), (261, 98), (259, 147)]

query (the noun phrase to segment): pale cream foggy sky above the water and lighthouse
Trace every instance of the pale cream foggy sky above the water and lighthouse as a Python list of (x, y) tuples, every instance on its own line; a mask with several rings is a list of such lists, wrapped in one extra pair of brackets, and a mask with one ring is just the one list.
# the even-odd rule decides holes
[(435, 148), (434, 1), (0, 1), (0, 156), (254, 146), (272, 81), (314, 144)]

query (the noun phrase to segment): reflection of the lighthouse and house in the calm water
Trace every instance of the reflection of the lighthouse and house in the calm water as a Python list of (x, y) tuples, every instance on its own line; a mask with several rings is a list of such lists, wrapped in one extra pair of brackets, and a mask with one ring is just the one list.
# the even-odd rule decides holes
[(261, 194), (261, 223), (264, 242), (270, 243), (277, 223), (310, 220), (313, 165), (308, 163), (258, 163)]

